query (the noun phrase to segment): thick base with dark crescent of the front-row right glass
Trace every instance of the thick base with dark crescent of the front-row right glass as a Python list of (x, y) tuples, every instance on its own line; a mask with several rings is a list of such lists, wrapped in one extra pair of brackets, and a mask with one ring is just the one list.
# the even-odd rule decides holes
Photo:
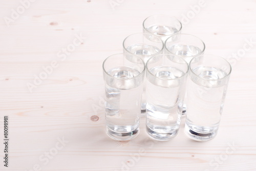
[(217, 131), (218, 129), (211, 130), (209, 132), (204, 132), (204, 133), (199, 131), (196, 132), (195, 130), (192, 130), (187, 124), (185, 124), (185, 129), (184, 129), (186, 136), (195, 141), (208, 141), (217, 135)]

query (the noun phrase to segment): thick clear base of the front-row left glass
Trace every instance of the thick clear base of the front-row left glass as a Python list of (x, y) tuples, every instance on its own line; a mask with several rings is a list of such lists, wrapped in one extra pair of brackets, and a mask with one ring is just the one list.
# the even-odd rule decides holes
[(127, 133), (118, 133), (115, 132), (111, 129), (109, 129), (108, 127), (106, 127), (106, 133), (108, 133), (108, 135), (118, 141), (128, 141), (131, 140), (133, 138), (135, 138), (138, 134), (139, 134), (140, 130), (139, 127), (135, 130), (133, 130), (132, 132), (127, 132)]

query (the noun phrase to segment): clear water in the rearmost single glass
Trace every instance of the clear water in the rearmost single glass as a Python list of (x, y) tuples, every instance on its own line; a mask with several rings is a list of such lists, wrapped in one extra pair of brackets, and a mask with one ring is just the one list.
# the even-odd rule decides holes
[(178, 30), (174, 27), (158, 25), (148, 27), (146, 30), (152, 34), (155, 34), (156, 36), (159, 36), (163, 41), (165, 41), (169, 36), (178, 32)]

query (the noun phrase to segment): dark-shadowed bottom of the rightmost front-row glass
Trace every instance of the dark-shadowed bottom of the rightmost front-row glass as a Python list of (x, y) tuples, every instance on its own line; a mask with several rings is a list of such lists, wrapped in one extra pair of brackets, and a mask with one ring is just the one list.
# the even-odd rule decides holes
[(216, 137), (218, 127), (202, 127), (186, 122), (184, 132), (186, 136), (195, 141), (208, 141)]

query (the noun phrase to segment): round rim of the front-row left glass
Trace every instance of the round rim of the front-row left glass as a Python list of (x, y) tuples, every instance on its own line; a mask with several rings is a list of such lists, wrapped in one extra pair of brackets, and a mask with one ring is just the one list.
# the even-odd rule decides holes
[(113, 55), (109, 56), (108, 58), (106, 58), (106, 59), (103, 61), (103, 63), (102, 63), (102, 69), (103, 69), (103, 72), (104, 72), (107, 76), (109, 76), (109, 77), (111, 77), (111, 78), (113, 78), (113, 79), (117, 79), (117, 80), (132, 80), (132, 79), (136, 79), (136, 78), (138, 78), (138, 77), (141, 77), (141, 75), (144, 74), (145, 69), (146, 69), (145, 62), (144, 62), (140, 57), (138, 57), (138, 56), (136, 56), (136, 55), (133, 55), (134, 57), (136, 57), (136, 58), (138, 58), (139, 60), (141, 60), (141, 62), (142, 62), (142, 64), (143, 64), (143, 70), (140, 72), (140, 74), (139, 74), (138, 76), (135, 76), (135, 77), (132, 77), (132, 78), (128, 78), (128, 79), (121, 79), (121, 78), (116, 78), (116, 77), (111, 76), (111, 75), (108, 73), (108, 71), (105, 70), (104, 64), (105, 64), (105, 62), (106, 62), (108, 59), (110, 59), (111, 57), (113, 57), (113, 56), (118, 56), (118, 55), (131, 55), (131, 54), (118, 53), (118, 54), (113, 54)]

